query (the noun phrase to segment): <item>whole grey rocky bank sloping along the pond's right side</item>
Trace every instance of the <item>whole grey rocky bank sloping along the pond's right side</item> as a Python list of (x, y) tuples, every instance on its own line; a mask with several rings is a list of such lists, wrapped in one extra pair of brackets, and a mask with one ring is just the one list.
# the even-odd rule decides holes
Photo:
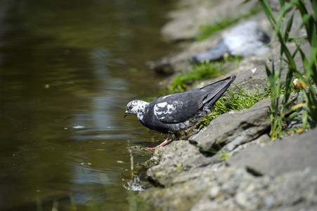
[[(180, 0), (162, 29), (163, 37), (178, 41), (180, 50), (151, 63), (153, 70), (168, 74), (191, 71), (188, 58), (209, 49), (231, 29), (204, 41), (193, 41), (200, 25), (212, 25), (228, 14), (237, 17), (257, 7), (257, 1), (241, 2)], [(271, 5), (276, 8), (278, 4), (271, 1)], [(240, 20), (237, 25), (247, 20), (257, 21), (271, 40), (276, 40), (264, 13)], [(300, 30), (301, 22), (295, 15), (291, 33), (297, 37), (305, 35)], [(295, 45), (289, 47), (295, 49)], [(239, 87), (264, 91), (268, 84), (264, 64), (271, 67), (273, 60), (278, 65), (279, 48), (274, 42), (271, 53), (244, 58), (226, 75), (237, 75), (235, 84)], [(302, 49), (311, 51), (305, 41)], [(296, 61), (301, 67), (300, 58)], [(285, 74), (286, 70), (283, 78)], [(191, 88), (219, 79), (196, 82)], [(317, 129), (272, 141), (268, 136), (270, 105), (268, 98), (250, 109), (225, 113), (186, 140), (157, 147), (148, 161), (154, 165), (147, 170), (149, 184), (140, 192), (141, 199), (157, 210), (316, 210)], [(219, 145), (219, 153), (208, 153)], [(223, 161), (223, 153), (230, 158)]]

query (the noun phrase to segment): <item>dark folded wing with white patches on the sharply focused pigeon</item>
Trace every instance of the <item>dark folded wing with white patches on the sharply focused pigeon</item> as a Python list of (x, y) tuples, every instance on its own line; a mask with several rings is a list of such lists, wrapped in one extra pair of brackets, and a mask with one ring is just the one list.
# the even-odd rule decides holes
[(153, 114), (160, 122), (175, 124), (185, 122), (195, 115), (200, 104), (208, 93), (205, 90), (193, 89), (180, 94), (172, 94), (157, 98), (150, 103)]

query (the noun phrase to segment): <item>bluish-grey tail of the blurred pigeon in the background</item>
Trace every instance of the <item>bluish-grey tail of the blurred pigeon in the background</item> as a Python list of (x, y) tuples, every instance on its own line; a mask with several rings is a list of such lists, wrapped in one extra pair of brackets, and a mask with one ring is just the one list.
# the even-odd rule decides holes
[(199, 64), (201, 62), (207, 62), (212, 60), (219, 60), (224, 57), (225, 53), (229, 53), (228, 46), (224, 42), (224, 39), (219, 40), (219, 42), (212, 49), (205, 53), (200, 53), (196, 56), (190, 58), (191, 63)]

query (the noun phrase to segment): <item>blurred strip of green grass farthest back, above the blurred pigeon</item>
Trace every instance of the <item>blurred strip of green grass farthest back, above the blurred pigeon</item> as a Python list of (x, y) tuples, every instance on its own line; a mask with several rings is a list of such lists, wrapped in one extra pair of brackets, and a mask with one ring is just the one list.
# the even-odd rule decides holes
[(239, 20), (249, 18), (252, 15), (255, 15), (259, 12), (259, 9), (257, 8), (252, 8), (249, 13), (245, 15), (241, 15), (238, 18), (226, 18), (223, 20), (220, 20), (219, 22), (214, 23), (214, 25), (205, 25), (200, 27), (201, 33), (196, 37), (197, 41), (202, 41), (204, 39), (209, 38), (212, 36), (212, 34), (219, 32), (221, 30), (224, 30), (226, 27), (229, 27), (231, 25), (234, 25), (235, 23), (238, 23)]

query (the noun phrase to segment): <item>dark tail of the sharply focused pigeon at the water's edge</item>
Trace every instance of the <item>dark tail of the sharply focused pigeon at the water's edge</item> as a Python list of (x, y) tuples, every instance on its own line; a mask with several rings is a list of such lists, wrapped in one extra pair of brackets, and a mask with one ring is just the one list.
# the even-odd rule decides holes
[(214, 84), (209, 84), (206, 87), (202, 87), (209, 91), (210, 93), (204, 99), (203, 104), (207, 103), (207, 108), (214, 106), (214, 103), (224, 94), (224, 92), (230, 87), (232, 82), (235, 80), (235, 75), (233, 77), (227, 77)]

